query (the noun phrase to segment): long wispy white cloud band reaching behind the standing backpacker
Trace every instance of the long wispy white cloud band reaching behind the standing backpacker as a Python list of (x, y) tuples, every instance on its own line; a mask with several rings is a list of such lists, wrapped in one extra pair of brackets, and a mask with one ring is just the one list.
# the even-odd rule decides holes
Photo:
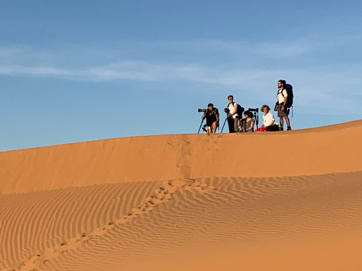
[[(350, 103), (348, 84), (362, 84), (359, 74), (362, 69), (332, 70), (322, 67), (310, 69), (236, 69), (224, 66), (204, 66), (199, 64), (172, 65), (166, 63), (148, 63), (145, 61), (124, 61), (106, 66), (87, 69), (61, 69), (49, 66), (0, 66), (0, 74), (14, 76), (38, 76), (64, 78), (79, 81), (146, 81), (146, 82), (201, 82), (216, 84), (222, 88), (242, 89), (262, 98), (266, 92), (275, 88), (275, 81), (289, 78), (295, 86), (295, 95), (303, 104), (330, 107), (327, 103)], [(353, 95), (360, 95), (352, 89)]]

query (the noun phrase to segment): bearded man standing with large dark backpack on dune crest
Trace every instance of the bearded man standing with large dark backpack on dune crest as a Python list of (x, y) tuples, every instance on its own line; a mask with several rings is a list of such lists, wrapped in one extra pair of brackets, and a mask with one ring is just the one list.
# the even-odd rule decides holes
[(289, 120), (289, 110), (288, 108), (291, 107), (293, 93), (292, 93), (292, 86), (288, 85), (285, 80), (278, 81), (278, 101), (277, 101), (277, 110), (278, 110), (278, 117), (280, 121), (280, 128), (283, 131), (283, 124), (284, 120), (287, 122), (287, 130), (291, 130), (290, 128), (290, 120)]

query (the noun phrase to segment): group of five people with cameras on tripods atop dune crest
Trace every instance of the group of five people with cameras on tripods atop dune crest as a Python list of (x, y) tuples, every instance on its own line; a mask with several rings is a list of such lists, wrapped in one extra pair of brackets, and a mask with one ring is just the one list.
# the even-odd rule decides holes
[[(228, 105), (224, 109), (227, 113), (225, 122), (228, 122), (230, 133), (248, 133), (248, 132), (264, 132), (264, 131), (283, 131), (284, 120), (287, 124), (287, 130), (291, 130), (289, 111), (292, 105), (293, 93), (292, 86), (287, 84), (285, 80), (279, 80), (278, 83), (277, 102), (275, 103), (274, 111), (278, 112), (279, 124), (275, 121), (273, 113), (270, 112), (270, 107), (266, 104), (262, 105), (260, 111), (264, 112), (262, 117), (263, 124), (261, 127), (254, 129), (254, 125), (258, 122), (258, 108), (249, 108), (244, 111), (244, 108), (234, 102), (232, 95), (228, 96)], [(206, 124), (203, 130), (206, 133), (216, 133), (216, 128), (219, 127), (219, 110), (214, 107), (212, 103), (207, 105), (207, 109), (203, 110), (205, 113), (202, 120), (206, 119)], [(242, 115), (244, 114), (244, 118)], [(201, 123), (202, 124), (202, 123)], [(224, 123), (225, 125), (225, 123)], [(200, 126), (201, 127), (201, 126)]]

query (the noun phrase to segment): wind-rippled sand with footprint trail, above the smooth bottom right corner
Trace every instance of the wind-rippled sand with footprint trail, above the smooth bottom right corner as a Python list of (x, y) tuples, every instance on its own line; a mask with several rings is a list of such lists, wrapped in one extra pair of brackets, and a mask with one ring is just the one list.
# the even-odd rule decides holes
[(361, 177), (215, 177), (1, 195), (0, 269), (137, 270), (155, 255), (357, 234)]

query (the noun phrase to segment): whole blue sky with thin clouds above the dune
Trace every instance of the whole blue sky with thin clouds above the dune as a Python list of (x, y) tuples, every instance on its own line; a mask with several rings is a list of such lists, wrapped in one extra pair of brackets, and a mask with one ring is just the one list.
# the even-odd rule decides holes
[(293, 129), (362, 119), (361, 14), (361, 1), (1, 1), (0, 151), (196, 133), (198, 108), (229, 94), (272, 107), (279, 79)]

